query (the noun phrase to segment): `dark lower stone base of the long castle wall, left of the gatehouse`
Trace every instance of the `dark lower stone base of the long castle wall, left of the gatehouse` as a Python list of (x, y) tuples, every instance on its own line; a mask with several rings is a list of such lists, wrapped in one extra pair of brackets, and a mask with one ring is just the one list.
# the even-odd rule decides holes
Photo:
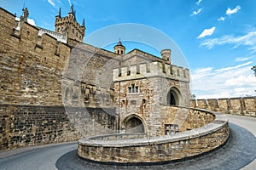
[(0, 150), (115, 133), (114, 112), (109, 108), (0, 105)]

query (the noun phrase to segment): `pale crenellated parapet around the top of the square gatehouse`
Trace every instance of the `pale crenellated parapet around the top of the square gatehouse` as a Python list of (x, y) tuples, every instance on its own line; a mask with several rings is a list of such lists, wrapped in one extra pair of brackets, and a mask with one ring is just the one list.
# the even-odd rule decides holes
[(189, 82), (189, 69), (177, 65), (168, 65), (159, 61), (113, 69), (113, 82), (148, 77), (166, 77)]

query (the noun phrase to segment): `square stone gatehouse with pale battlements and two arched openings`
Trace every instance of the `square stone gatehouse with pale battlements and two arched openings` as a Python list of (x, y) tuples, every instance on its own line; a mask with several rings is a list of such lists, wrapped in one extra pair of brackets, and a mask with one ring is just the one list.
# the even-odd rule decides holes
[(125, 54), (119, 40), (114, 46), (119, 66), (113, 68), (114, 105), (119, 108), (122, 133), (165, 135), (166, 125), (186, 130), (174, 123), (166, 107), (189, 106), (189, 70), (171, 64), (171, 49), (163, 49), (161, 58), (133, 49)]

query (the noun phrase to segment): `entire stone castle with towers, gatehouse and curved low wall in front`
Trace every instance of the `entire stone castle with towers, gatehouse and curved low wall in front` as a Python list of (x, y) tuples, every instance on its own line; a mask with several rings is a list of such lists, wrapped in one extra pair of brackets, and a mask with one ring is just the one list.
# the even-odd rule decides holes
[(55, 31), (23, 13), (0, 8), (0, 150), (79, 140), (85, 159), (137, 163), (227, 141), (225, 116), (189, 108), (189, 69), (172, 65), (171, 49), (159, 58), (120, 40), (113, 52), (84, 43), (73, 6)]

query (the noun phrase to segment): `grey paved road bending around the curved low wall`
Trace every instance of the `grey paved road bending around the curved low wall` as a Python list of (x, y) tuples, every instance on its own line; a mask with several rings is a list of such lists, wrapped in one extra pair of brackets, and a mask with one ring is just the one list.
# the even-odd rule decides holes
[(73, 142), (0, 151), (0, 169), (255, 169), (256, 118), (227, 116), (231, 122), (228, 143), (188, 161), (132, 167), (97, 164), (79, 159), (77, 143)]

